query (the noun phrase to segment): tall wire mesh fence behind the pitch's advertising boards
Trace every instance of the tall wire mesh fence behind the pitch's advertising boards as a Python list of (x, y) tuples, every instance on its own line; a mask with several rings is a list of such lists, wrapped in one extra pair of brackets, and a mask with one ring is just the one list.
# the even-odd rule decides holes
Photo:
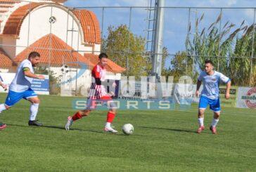
[[(1, 7), (0, 46), (11, 62), (18, 64), (31, 51), (40, 50), (46, 56), (41, 67), (48, 73), (57, 72), (61, 78), (69, 66), (75, 92), (83, 89), (77, 87), (79, 80), (87, 79), (77, 77), (78, 62), (90, 70), (102, 51), (126, 69), (122, 75), (151, 74), (154, 9), (150, 6), (70, 8), (27, 1), (8, 5)], [(179, 81), (187, 75), (195, 82), (204, 60), (211, 59), (215, 70), (231, 77), (236, 86), (256, 85), (256, 8), (162, 8), (163, 76)], [(1, 67), (1, 72), (13, 71)]]

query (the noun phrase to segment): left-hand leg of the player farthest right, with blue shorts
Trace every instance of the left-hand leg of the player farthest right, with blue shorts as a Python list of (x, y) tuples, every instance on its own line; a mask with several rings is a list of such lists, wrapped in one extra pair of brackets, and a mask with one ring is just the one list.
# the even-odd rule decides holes
[(197, 133), (201, 133), (205, 129), (205, 125), (203, 123), (204, 116), (205, 116), (205, 109), (208, 105), (208, 99), (204, 96), (200, 97), (199, 105), (198, 105), (198, 130)]

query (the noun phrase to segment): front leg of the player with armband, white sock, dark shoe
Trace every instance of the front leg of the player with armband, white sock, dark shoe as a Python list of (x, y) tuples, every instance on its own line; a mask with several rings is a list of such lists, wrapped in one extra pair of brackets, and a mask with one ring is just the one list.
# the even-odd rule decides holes
[(25, 98), (26, 100), (31, 102), (30, 120), (28, 121), (28, 125), (29, 126), (42, 126), (42, 124), (36, 120), (38, 109), (39, 109), (39, 103), (40, 103), (37, 93), (34, 93), (34, 91), (32, 89), (29, 89), (29, 90), (25, 91), (25, 95), (23, 96), (23, 98)]

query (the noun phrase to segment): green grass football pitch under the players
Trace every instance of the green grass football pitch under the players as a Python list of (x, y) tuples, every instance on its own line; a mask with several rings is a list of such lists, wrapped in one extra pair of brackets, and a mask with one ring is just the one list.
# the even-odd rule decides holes
[[(0, 94), (4, 102), (6, 94)], [(224, 108), (218, 135), (208, 126), (207, 110), (200, 135), (196, 107), (188, 111), (120, 111), (115, 128), (103, 133), (106, 112), (95, 111), (65, 131), (72, 98), (40, 96), (37, 118), (44, 127), (29, 127), (25, 100), (0, 114), (8, 124), (0, 131), (0, 171), (256, 171), (256, 112)], [(133, 135), (123, 135), (125, 123)]]

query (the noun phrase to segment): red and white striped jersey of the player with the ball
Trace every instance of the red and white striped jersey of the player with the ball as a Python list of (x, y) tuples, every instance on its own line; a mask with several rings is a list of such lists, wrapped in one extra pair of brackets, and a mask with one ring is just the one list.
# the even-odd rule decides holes
[(96, 65), (94, 69), (91, 71), (91, 88), (89, 91), (89, 98), (99, 99), (105, 95), (108, 95), (103, 85), (96, 84), (96, 78), (101, 79), (101, 81), (105, 81), (105, 75), (105, 67), (101, 67), (101, 65), (99, 64)]

